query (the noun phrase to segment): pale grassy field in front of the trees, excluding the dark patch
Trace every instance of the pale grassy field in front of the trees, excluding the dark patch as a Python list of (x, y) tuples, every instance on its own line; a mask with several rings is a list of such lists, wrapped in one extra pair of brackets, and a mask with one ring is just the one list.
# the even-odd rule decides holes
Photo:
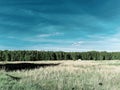
[[(0, 65), (10, 64), (1, 62)], [(27, 70), (0, 70), (0, 90), (120, 90), (120, 61), (12, 62), (57, 64)]]

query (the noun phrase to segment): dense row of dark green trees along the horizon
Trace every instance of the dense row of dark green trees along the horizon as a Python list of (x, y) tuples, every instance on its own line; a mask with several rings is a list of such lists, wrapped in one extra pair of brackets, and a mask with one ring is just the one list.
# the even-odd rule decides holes
[(41, 60), (120, 60), (120, 52), (63, 52), (1, 50), (0, 61), (41, 61)]

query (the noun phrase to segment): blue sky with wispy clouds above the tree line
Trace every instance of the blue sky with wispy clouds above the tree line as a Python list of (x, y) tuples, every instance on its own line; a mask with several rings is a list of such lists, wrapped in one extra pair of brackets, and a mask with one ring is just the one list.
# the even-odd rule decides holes
[(0, 49), (120, 51), (120, 0), (0, 0)]

